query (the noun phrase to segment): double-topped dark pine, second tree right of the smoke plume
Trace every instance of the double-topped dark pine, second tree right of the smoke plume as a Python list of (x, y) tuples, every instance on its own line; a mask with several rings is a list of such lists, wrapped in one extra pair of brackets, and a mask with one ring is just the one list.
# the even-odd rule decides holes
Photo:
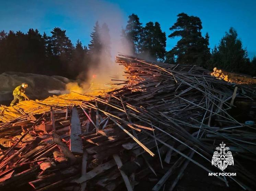
[(158, 22), (149, 22), (142, 29), (139, 52), (140, 55), (149, 54), (151, 59), (164, 61), (166, 47), (166, 35), (161, 30)]

